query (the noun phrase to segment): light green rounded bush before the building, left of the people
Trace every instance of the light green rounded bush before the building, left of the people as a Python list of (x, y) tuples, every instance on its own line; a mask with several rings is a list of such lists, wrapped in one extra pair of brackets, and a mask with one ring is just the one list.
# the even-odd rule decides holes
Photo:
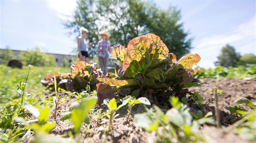
[(18, 59), (22, 61), (24, 65), (34, 66), (55, 66), (56, 60), (52, 55), (40, 52), (39, 48), (34, 50), (27, 50), (21, 52)]

